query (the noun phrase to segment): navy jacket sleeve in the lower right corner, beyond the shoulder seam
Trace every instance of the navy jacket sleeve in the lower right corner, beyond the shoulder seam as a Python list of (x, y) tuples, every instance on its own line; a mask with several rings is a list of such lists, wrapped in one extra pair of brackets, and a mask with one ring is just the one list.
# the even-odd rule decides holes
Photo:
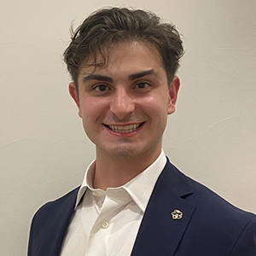
[(256, 256), (256, 216), (242, 230), (231, 256)]

